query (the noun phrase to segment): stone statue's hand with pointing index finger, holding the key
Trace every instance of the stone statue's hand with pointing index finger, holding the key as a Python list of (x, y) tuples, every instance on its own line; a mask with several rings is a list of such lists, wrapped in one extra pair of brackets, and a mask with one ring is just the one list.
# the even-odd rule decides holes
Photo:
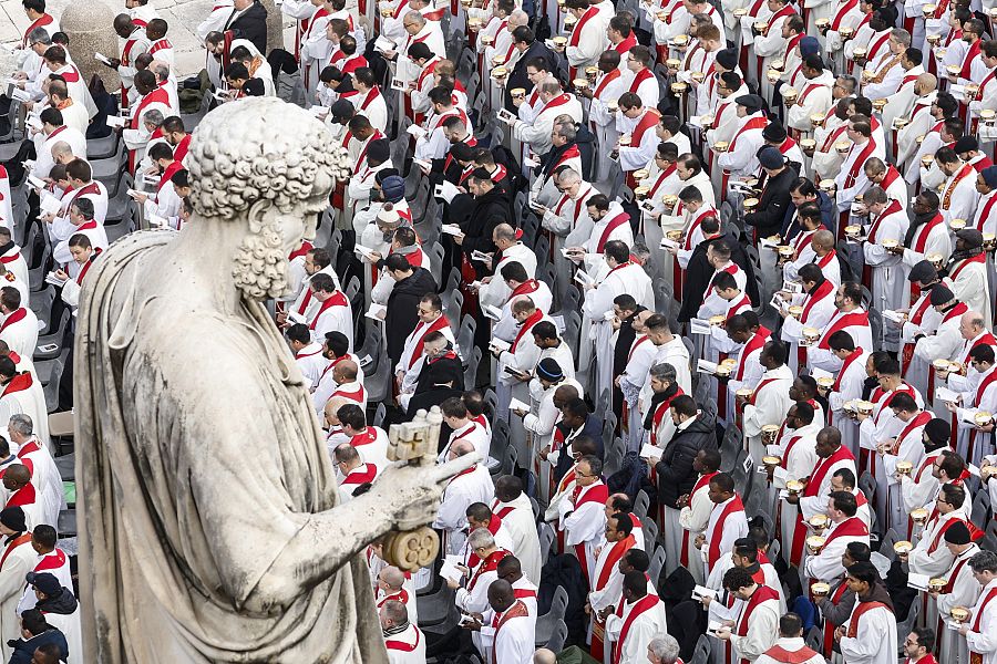
[(389, 466), (370, 492), (383, 506), (393, 528), (414, 530), (433, 520), (450, 478), (476, 460), (476, 454), (469, 454), (440, 466)]

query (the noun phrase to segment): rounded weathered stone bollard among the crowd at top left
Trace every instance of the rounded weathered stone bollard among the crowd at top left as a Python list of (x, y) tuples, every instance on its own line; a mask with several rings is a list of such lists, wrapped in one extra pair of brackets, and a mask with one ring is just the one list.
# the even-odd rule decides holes
[(114, 12), (101, 2), (72, 2), (62, 12), (59, 24), (70, 35), (70, 55), (83, 74), (83, 81), (96, 74), (107, 92), (121, 89), (117, 72), (93, 59), (94, 53), (117, 56), (117, 35), (114, 34)]

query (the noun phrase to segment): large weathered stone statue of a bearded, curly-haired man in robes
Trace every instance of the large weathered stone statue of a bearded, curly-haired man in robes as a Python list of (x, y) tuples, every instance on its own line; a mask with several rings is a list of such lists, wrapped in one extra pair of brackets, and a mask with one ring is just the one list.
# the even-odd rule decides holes
[(186, 166), (191, 222), (126, 236), (83, 288), (84, 661), (387, 663), (361, 553), (428, 523), (475, 459), (395, 465), (337, 505), (263, 300), (287, 289), (287, 256), (314, 236), (345, 153), (311, 114), (261, 97), (209, 113)]

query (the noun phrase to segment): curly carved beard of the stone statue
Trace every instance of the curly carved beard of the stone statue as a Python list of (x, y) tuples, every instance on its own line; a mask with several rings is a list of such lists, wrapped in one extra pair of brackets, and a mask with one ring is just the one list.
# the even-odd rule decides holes
[(235, 256), (232, 276), (236, 288), (249, 300), (279, 298), (288, 289), (287, 252), (276, 224), (250, 219), (250, 232)]

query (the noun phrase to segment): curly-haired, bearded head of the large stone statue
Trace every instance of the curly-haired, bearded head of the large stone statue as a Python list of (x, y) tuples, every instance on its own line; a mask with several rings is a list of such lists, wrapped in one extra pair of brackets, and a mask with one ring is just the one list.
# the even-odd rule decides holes
[(315, 237), (347, 158), (315, 116), (276, 97), (223, 104), (197, 126), (185, 159), (193, 224), (245, 226), (233, 277), (246, 298), (285, 293), (287, 258)]

